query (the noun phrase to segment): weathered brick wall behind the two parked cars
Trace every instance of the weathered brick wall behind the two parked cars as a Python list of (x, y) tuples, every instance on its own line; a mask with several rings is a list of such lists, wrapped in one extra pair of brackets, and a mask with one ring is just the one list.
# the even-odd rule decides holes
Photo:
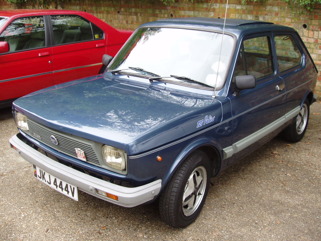
[[(37, 8), (15, 6), (0, 0), (0, 9), (17, 7)], [(178, 1), (169, 6), (158, 0), (68, 0), (64, 3), (64, 9), (86, 11), (115, 28), (131, 30), (143, 22), (162, 18), (223, 18), (225, 7), (226, 0), (204, 0), (194, 3)], [(51, 8), (54, 8), (54, 5)], [(293, 16), (290, 7), (283, 0), (268, 0), (248, 5), (241, 5), (240, 0), (229, 0), (227, 18), (268, 21), (296, 29), (317, 65), (319, 76), (316, 92), (321, 96), (321, 5), (317, 5), (312, 13)]]

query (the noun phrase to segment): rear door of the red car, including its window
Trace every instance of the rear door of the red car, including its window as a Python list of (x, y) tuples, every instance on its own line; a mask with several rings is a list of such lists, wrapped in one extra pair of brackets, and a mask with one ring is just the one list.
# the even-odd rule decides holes
[(54, 83), (98, 74), (106, 53), (104, 31), (78, 15), (51, 15)]

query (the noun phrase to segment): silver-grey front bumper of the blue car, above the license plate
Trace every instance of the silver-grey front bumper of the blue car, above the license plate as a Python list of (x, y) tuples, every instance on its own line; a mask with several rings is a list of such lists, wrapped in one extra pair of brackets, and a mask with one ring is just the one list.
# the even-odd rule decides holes
[[(38, 166), (65, 182), (77, 186), (77, 188), (83, 192), (123, 207), (134, 207), (148, 202), (157, 196), (161, 189), (161, 180), (156, 180), (152, 183), (134, 188), (108, 183), (50, 159), (48, 156), (41, 154), (25, 144), (16, 135), (11, 137), (9, 141), (11, 147), (14, 146), (18, 149), (17, 152), (19, 155), (31, 164)], [(98, 194), (96, 189), (116, 195), (118, 201)]]

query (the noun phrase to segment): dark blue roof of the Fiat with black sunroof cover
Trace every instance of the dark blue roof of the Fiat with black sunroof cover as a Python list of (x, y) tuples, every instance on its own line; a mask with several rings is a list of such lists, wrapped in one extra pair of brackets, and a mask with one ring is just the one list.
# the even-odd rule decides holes
[[(225, 22), (225, 25), (224, 25)], [(224, 19), (224, 18), (205, 18), (188, 17), (160, 19), (154, 22), (144, 23), (140, 27), (174, 27), (204, 29), (207, 31), (224, 31), (235, 35), (242, 35), (263, 31), (295, 31), (294, 29), (274, 24), (272, 22), (245, 20), (245, 19)]]

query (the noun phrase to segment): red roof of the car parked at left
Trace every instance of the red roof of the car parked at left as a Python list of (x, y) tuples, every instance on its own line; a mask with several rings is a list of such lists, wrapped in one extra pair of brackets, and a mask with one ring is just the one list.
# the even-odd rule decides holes
[(48, 15), (48, 14), (79, 14), (85, 13), (74, 10), (55, 10), (55, 9), (10, 9), (0, 10), (1, 17), (24, 17), (30, 15)]

